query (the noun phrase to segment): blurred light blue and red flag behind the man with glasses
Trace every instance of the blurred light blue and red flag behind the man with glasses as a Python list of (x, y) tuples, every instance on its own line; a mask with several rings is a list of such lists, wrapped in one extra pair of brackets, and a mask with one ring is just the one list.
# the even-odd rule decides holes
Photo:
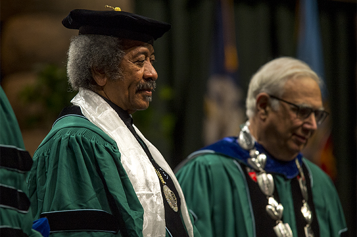
[[(309, 64), (312, 70), (324, 81), (321, 86), (321, 94), (324, 107), (328, 110), (328, 92), (324, 80), (324, 61), (317, 0), (299, 0), (297, 9), (298, 41), (296, 55), (298, 59)], [(337, 170), (333, 154), (330, 119), (326, 119), (322, 126), (317, 129), (303, 153), (319, 165), (333, 180), (336, 178)]]

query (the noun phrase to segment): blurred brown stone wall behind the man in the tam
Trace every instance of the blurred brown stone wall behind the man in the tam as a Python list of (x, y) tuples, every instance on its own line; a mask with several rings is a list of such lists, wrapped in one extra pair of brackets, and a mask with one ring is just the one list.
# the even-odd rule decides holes
[[(51, 128), (55, 118), (41, 126), (29, 127), (26, 119), (44, 111), (39, 104), (26, 104), (20, 93), (34, 85), (44, 65), (66, 67), (69, 40), (77, 30), (65, 28), (61, 21), (76, 8), (106, 10), (105, 5), (134, 12), (134, 0), (2, 0), (0, 2), (1, 86), (19, 121), (26, 149), (31, 156)], [(39, 91), (38, 93), (45, 93)]]

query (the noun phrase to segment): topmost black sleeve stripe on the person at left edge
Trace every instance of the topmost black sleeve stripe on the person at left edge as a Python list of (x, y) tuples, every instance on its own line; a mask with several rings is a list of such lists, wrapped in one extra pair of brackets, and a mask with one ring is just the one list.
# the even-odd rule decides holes
[(32, 158), (27, 151), (16, 147), (0, 146), (1, 167), (27, 172), (31, 169), (32, 162)]

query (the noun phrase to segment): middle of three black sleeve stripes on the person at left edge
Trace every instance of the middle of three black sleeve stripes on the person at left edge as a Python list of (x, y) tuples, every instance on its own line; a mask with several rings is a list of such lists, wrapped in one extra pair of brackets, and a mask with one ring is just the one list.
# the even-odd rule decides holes
[(2, 207), (14, 208), (20, 212), (28, 212), (30, 200), (21, 190), (0, 185), (0, 205)]

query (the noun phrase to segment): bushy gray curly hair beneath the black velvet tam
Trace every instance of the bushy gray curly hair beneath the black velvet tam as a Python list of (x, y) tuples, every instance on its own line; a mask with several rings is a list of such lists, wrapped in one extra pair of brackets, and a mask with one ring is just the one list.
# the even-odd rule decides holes
[(92, 69), (104, 72), (109, 79), (122, 78), (119, 67), (124, 57), (120, 39), (102, 35), (79, 35), (71, 39), (67, 52), (67, 77), (71, 88), (95, 91)]

